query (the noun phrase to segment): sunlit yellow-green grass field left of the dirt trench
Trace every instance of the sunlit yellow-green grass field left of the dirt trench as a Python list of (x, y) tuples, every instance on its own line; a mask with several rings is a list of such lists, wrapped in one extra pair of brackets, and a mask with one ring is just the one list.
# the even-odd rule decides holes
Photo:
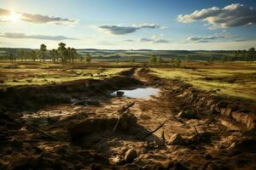
[[(53, 66), (53, 65), (51, 65)], [(49, 67), (49, 65), (38, 65), (26, 68), (19, 65), (17, 68), (0, 68), (0, 87), (14, 86), (42, 86), (61, 82), (71, 82), (84, 79), (103, 79), (118, 75), (121, 71), (129, 68), (85, 68), (73, 69), (66, 66)]]

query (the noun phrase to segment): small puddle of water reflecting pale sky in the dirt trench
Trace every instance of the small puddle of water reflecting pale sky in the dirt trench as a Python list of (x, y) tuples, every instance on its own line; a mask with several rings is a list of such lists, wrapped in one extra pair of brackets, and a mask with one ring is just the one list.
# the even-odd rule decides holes
[(160, 88), (136, 88), (131, 90), (118, 90), (113, 92), (113, 96), (124, 96), (127, 98), (149, 99), (151, 96), (158, 96)]

